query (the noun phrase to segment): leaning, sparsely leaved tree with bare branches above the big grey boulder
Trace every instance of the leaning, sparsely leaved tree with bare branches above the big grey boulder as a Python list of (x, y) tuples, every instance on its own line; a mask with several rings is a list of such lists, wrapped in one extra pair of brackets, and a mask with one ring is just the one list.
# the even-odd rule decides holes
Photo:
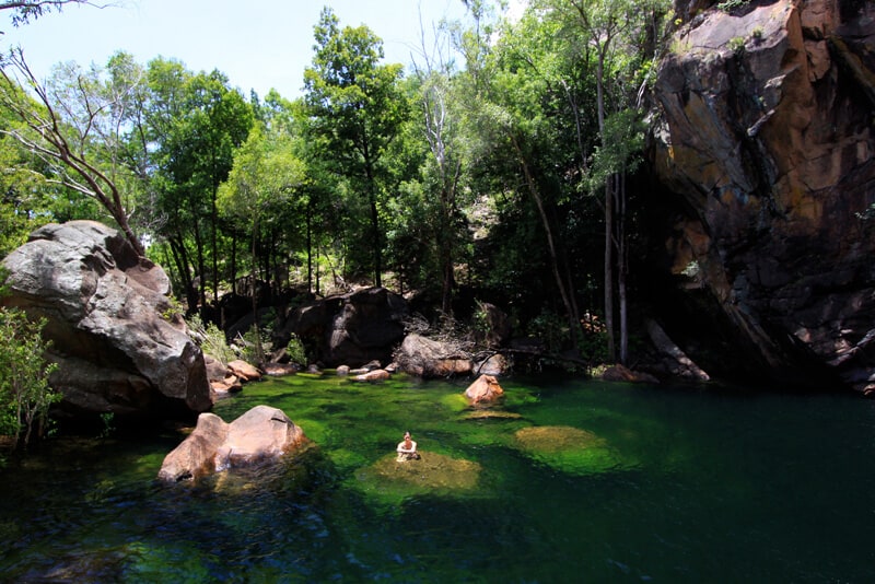
[(0, 106), (22, 125), (0, 132), (40, 157), (50, 173), (49, 183), (98, 201), (133, 249), (143, 255), (129, 222), (121, 189), (126, 168), (119, 164), (124, 121), (119, 98), (132, 86), (106, 91), (101, 74), (96, 68), (84, 72), (70, 66), (56, 70), (50, 83), (44, 85), (22, 50), (13, 49), (0, 66)]

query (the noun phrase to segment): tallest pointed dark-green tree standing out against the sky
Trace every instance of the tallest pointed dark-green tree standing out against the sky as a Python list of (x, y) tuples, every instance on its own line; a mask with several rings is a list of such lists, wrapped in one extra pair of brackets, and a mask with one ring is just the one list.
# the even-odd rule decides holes
[(310, 128), (328, 164), (366, 198), (366, 245), (372, 248), (374, 284), (382, 285), (382, 163), (408, 112), (399, 86), (402, 68), (381, 65), (382, 40), (366, 26), (341, 28), (329, 8), (323, 9), (314, 36), (315, 55), (304, 71)]

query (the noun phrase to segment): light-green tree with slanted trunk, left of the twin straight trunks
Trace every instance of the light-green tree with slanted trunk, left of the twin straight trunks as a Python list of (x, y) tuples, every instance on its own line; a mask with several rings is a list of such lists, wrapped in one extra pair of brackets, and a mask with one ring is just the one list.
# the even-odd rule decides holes
[[(475, 20), (483, 14), (475, 12)], [(563, 253), (559, 221), (559, 206), (568, 197), (568, 186), (563, 185), (569, 166), (565, 142), (573, 131), (568, 131), (558, 115), (562, 94), (552, 63), (557, 48), (553, 31), (532, 12), (515, 25), (504, 23), (498, 40), (489, 44), (476, 40), (478, 28), (483, 30), (477, 25), (456, 35), (468, 69), (477, 71), (476, 77), (469, 75), (465, 100), (468, 148), (475, 160), (490, 160), (493, 172), (505, 176), (500, 188), (530, 201), (530, 217), (540, 227), (547, 256), (551, 296), (558, 299), (565, 328), (576, 346), (576, 287)], [(523, 205), (522, 200), (517, 205)], [(516, 213), (526, 214), (523, 209)], [(520, 236), (527, 233), (521, 231)], [(534, 253), (533, 248), (518, 254), (517, 262), (530, 264)]]

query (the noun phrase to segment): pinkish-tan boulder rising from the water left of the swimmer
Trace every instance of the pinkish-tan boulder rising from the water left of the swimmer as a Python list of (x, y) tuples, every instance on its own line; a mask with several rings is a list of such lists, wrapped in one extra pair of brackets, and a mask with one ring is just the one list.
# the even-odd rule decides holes
[(194, 432), (164, 457), (159, 479), (198, 479), (214, 471), (278, 462), (306, 442), (301, 427), (282, 410), (256, 406), (231, 423), (201, 413)]

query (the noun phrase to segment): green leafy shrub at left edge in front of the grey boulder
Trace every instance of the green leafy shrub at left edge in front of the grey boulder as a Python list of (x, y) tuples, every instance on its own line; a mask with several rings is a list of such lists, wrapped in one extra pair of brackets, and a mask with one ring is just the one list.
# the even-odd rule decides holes
[(0, 308), (0, 433), (24, 447), (32, 436), (43, 436), (50, 406), (62, 398), (48, 385), (57, 364), (44, 358), (49, 347), (40, 336), (45, 324), (28, 320), (21, 311)]

